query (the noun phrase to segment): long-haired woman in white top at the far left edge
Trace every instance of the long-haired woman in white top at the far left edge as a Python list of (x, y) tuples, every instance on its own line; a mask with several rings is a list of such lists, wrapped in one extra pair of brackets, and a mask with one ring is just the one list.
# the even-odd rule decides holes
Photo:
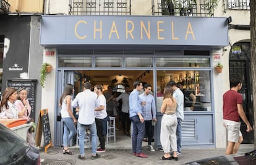
[(15, 88), (7, 87), (2, 94), (2, 101), (0, 105), (0, 118), (18, 119), (19, 111), (17, 111), (14, 105), (16, 99), (17, 90)]

